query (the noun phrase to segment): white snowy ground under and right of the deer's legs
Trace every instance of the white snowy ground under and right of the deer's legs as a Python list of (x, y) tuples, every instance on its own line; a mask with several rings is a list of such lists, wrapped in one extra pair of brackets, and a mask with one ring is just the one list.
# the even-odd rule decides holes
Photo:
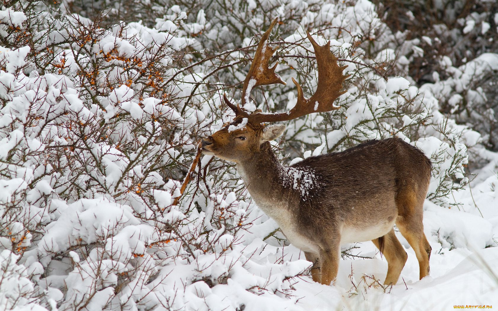
[[(429, 241), (433, 249), (440, 247), (434, 238)], [(295, 285), (295, 295), (300, 298), (296, 306), (303, 310), (450, 310), (454, 305), (497, 308), (497, 248), (443, 249), (444, 254), (436, 250), (431, 255), (431, 275), (421, 281), (415, 253), (408, 248), (406, 251), (408, 261), (402, 279), (385, 290), (389, 294), (384, 294), (384, 289), (369, 277), (362, 281), (365, 274), (382, 282), (387, 272), (385, 260), (343, 260), (335, 287), (310, 279), (299, 281)]]

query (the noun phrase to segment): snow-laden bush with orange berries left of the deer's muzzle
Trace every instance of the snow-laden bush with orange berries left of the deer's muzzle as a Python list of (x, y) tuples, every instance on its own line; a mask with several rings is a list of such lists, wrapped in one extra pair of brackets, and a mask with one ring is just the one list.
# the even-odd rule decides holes
[(250, 221), (235, 193), (203, 174), (178, 203), (187, 172), (207, 171), (189, 167), (212, 120), (182, 100), (195, 75), (175, 80), (178, 51), (195, 43), (178, 19), (102, 27), (27, 4), (5, 13), (0, 61), (0, 242), (4, 272), (22, 281), (3, 306), (222, 310), (289, 294), (308, 262), (258, 264), (266, 243), (241, 245)]

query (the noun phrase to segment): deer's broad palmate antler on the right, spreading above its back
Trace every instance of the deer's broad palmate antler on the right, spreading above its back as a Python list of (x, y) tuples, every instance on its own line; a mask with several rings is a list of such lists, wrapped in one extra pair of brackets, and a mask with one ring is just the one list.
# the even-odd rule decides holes
[(297, 87), (297, 103), (287, 112), (281, 113), (252, 113), (249, 115), (249, 122), (260, 124), (262, 122), (287, 121), (313, 112), (327, 112), (339, 109), (334, 101), (346, 93), (341, 92), (342, 83), (350, 75), (344, 76), (343, 70), (348, 66), (339, 67), (337, 57), (330, 51), (330, 41), (324, 46), (318, 45), (308, 32), (308, 39), (315, 50), (318, 65), (318, 86), (315, 94), (306, 99), (301, 86), (292, 78), (292, 82)]

